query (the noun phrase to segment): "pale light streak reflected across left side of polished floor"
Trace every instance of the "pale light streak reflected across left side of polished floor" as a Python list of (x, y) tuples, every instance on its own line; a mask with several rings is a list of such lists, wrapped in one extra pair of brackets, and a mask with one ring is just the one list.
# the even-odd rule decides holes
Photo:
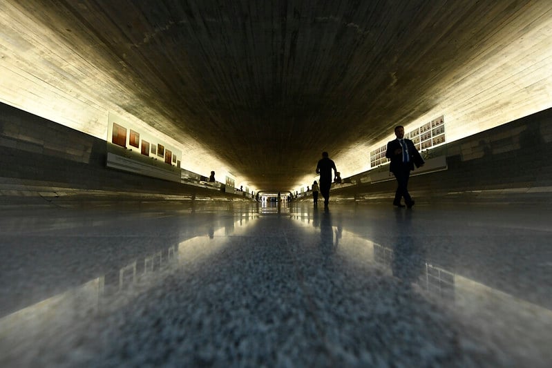
[[(248, 226), (256, 219), (258, 215), (254, 212), (238, 212), (237, 216), (226, 217), (222, 222), (218, 218), (213, 218), (213, 221), (207, 224), (203, 222), (204, 226), (194, 233), (206, 229), (204, 235), (193, 235), (186, 231), (184, 237), (187, 239), (175, 241), (175, 244), (155, 249), (152, 253), (140, 253), (127, 249), (129, 251), (127, 258), (133, 258), (131, 262), (110, 269), (78, 287), (71, 287), (35, 304), (4, 314), (0, 317), (0, 356), (2, 357), (0, 363), (10, 361), (15, 356), (23, 356), (26, 349), (30, 349), (33, 344), (39, 343), (46, 336), (66, 333), (74, 329), (79, 322), (88, 320), (97, 313), (108, 313), (132, 303), (137, 295), (155, 287), (179, 267), (209, 258), (231, 240), (229, 238), (231, 235), (240, 236), (247, 233)], [(64, 223), (64, 226), (58, 226), (60, 223)], [(85, 223), (90, 224), (88, 221)], [(112, 221), (100, 220), (95, 221), (95, 224), (106, 226), (112, 224)], [(71, 222), (70, 217), (64, 217), (62, 221), (51, 219), (51, 221), (42, 222), (42, 225), (42, 229), (39, 227), (35, 229), (38, 232), (46, 231), (48, 237), (62, 239), (67, 234), (57, 233), (57, 231), (75, 229), (75, 226), (82, 225), (82, 221)], [(128, 240), (129, 238), (126, 238), (126, 241)], [(67, 244), (69, 252), (71, 252), (70, 247), (76, 245), (75, 242), (78, 242), (78, 239), (73, 239), (73, 242)], [(111, 245), (117, 246), (117, 244)], [(74, 257), (75, 254), (72, 254), (66, 260), (74, 262)], [(33, 271), (28, 269), (26, 273), (31, 274)], [(75, 275), (67, 270), (64, 277), (75, 278)], [(7, 293), (8, 290), (9, 293)], [(29, 298), (21, 289), (6, 289), (6, 287), (3, 288), (3, 295), (9, 296), (0, 303), (3, 310), (9, 310), (9, 304), (6, 304), (8, 300), (12, 302), (11, 304), (17, 305), (21, 304), (18, 298), (21, 300)]]

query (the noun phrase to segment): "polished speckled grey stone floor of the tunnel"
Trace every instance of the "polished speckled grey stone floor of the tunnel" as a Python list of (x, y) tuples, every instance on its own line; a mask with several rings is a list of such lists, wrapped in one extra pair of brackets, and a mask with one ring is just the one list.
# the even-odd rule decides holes
[(0, 211), (0, 367), (551, 367), (546, 208)]

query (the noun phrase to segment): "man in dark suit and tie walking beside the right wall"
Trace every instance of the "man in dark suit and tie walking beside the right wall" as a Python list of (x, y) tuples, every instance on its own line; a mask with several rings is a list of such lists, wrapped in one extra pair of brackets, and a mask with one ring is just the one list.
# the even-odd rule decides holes
[(398, 184), (393, 205), (404, 207), (401, 204), (401, 198), (404, 197), (404, 202), (410, 209), (414, 206), (414, 201), (410, 197), (410, 194), (408, 194), (408, 177), (410, 177), (410, 171), (414, 170), (414, 165), (420, 167), (425, 162), (423, 162), (423, 158), (421, 158), (414, 143), (410, 139), (404, 139), (403, 126), (399, 125), (395, 127), (395, 135), (397, 139), (393, 139), (387, 144), (386, 151), (386, 157), (391, 159), (389, 171), (393, 173)]

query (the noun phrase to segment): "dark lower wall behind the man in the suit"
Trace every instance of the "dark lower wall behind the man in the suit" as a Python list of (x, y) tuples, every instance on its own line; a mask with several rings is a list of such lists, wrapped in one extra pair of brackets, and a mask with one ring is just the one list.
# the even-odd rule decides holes
[[(433, 167), (411, 173), (417, 203), (552, 203), (552, 108), (422, 154)], [(388, 164), (348, 179), (330, 200), (391, 203), (397, 188)]]

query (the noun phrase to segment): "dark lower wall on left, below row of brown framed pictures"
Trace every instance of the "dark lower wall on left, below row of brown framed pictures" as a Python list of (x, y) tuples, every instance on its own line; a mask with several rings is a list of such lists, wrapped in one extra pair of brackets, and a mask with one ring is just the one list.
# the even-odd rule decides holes
[[(117, 153), (117, 148), (111, 147), (110, 152)], [(49, 202), (79, 198), (246, 200), (240, 195), (107, 168), (107, 157), (108, 143), (103, 139), (0, 104), (0, 201), (29, 197)], [(160, 165), (166, 164), (152, 162), (153, 169)]]

